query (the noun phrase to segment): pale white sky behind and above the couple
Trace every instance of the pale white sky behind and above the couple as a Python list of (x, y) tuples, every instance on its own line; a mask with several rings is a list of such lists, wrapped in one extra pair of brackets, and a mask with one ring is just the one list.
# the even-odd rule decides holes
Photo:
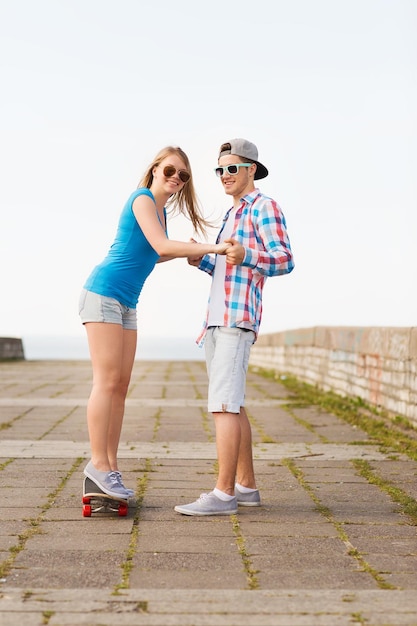
[[(415, 0), (0, 0), (0, 87), (0, 336), (84, 336), (81, 288), (162, 147), (219, 223), (234, 137), (269, 169), (296, 265), (267, 281), (261, 333), (416, 325)], [(140, 336), (194, 342), (209, 288), (157, 266)]]

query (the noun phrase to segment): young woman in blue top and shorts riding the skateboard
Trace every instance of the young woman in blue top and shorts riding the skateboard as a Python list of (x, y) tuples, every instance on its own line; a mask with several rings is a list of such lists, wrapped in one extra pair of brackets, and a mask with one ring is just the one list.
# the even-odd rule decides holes
[(91, 460), (84, 474), (111, 496), (133, 495), (117, 464), (126, 394), (136, 353), (136, 305), (155, 264), (176, 257), (224, 254), (228, 244), (171, 241), (167, 209), (188, 216), (195, 231), (208, 223), (198, 207), (187, 155), (178, 147), (161, 150), (139, 187), (128, 198), (106, 258), (88, 277), (79, 312), (93, 368), (87, 406)]

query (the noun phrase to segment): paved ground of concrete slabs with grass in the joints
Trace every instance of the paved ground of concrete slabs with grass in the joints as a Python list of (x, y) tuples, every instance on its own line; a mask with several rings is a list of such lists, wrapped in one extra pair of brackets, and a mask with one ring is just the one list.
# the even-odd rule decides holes
[(84, 518), (90, 386), (88, 362), (0, 363), (1, 626), (417, 625), (415, 461), (251, 372), (263, 506), (179, 515), (216, 476), (204, 364), (137, 361), (136, 501)]

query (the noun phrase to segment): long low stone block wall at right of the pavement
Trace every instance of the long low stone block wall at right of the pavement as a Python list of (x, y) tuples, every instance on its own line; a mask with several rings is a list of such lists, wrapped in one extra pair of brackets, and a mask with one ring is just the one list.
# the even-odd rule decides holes
[(360, 397), (417, 426), (417, 327), (316, 326), (261, 334), (250, 364)]

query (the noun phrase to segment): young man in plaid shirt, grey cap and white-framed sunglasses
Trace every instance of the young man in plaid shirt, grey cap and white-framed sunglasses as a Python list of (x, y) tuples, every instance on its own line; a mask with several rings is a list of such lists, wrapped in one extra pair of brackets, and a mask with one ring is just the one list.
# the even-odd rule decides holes
[(219, 471), (213, 491), (175, 507), (184, 515), (230, 515), (237, 513), (238, 505), (261, 504), (244, 408), (246, 373), (259, 332), (265, 280), (294, 268), (281, 209), (255, 187), (255, 180), (268, 176), (256, 146), (245, 139), (224, 143), (215, 171), (225, 193), (233, 198), (217, 237), (217, 242), (230, 247), (223, 257), (193, 257), (189, 263), (212, 276), (207, 318), (198, 342), (205, 341), (208, 410), (215, 420)]

